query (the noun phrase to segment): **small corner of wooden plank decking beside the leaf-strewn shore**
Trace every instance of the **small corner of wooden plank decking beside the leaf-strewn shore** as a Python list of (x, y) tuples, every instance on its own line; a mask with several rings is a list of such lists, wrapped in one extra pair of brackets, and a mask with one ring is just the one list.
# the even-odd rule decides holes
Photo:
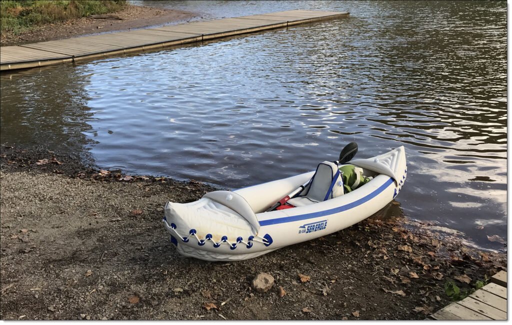
[(490, 281), (482, 289), (430, 317), (436, 320), (506, 320), (507, 272), (498, 272)]

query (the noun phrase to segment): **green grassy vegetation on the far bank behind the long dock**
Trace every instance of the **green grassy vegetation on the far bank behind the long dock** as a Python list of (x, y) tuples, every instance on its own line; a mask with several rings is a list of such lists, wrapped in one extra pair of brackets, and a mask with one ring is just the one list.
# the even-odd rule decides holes
[(2, 0), (0, 31), (17, 34), (41, 24), (112, 13), (125, 5), (125, 0)]

